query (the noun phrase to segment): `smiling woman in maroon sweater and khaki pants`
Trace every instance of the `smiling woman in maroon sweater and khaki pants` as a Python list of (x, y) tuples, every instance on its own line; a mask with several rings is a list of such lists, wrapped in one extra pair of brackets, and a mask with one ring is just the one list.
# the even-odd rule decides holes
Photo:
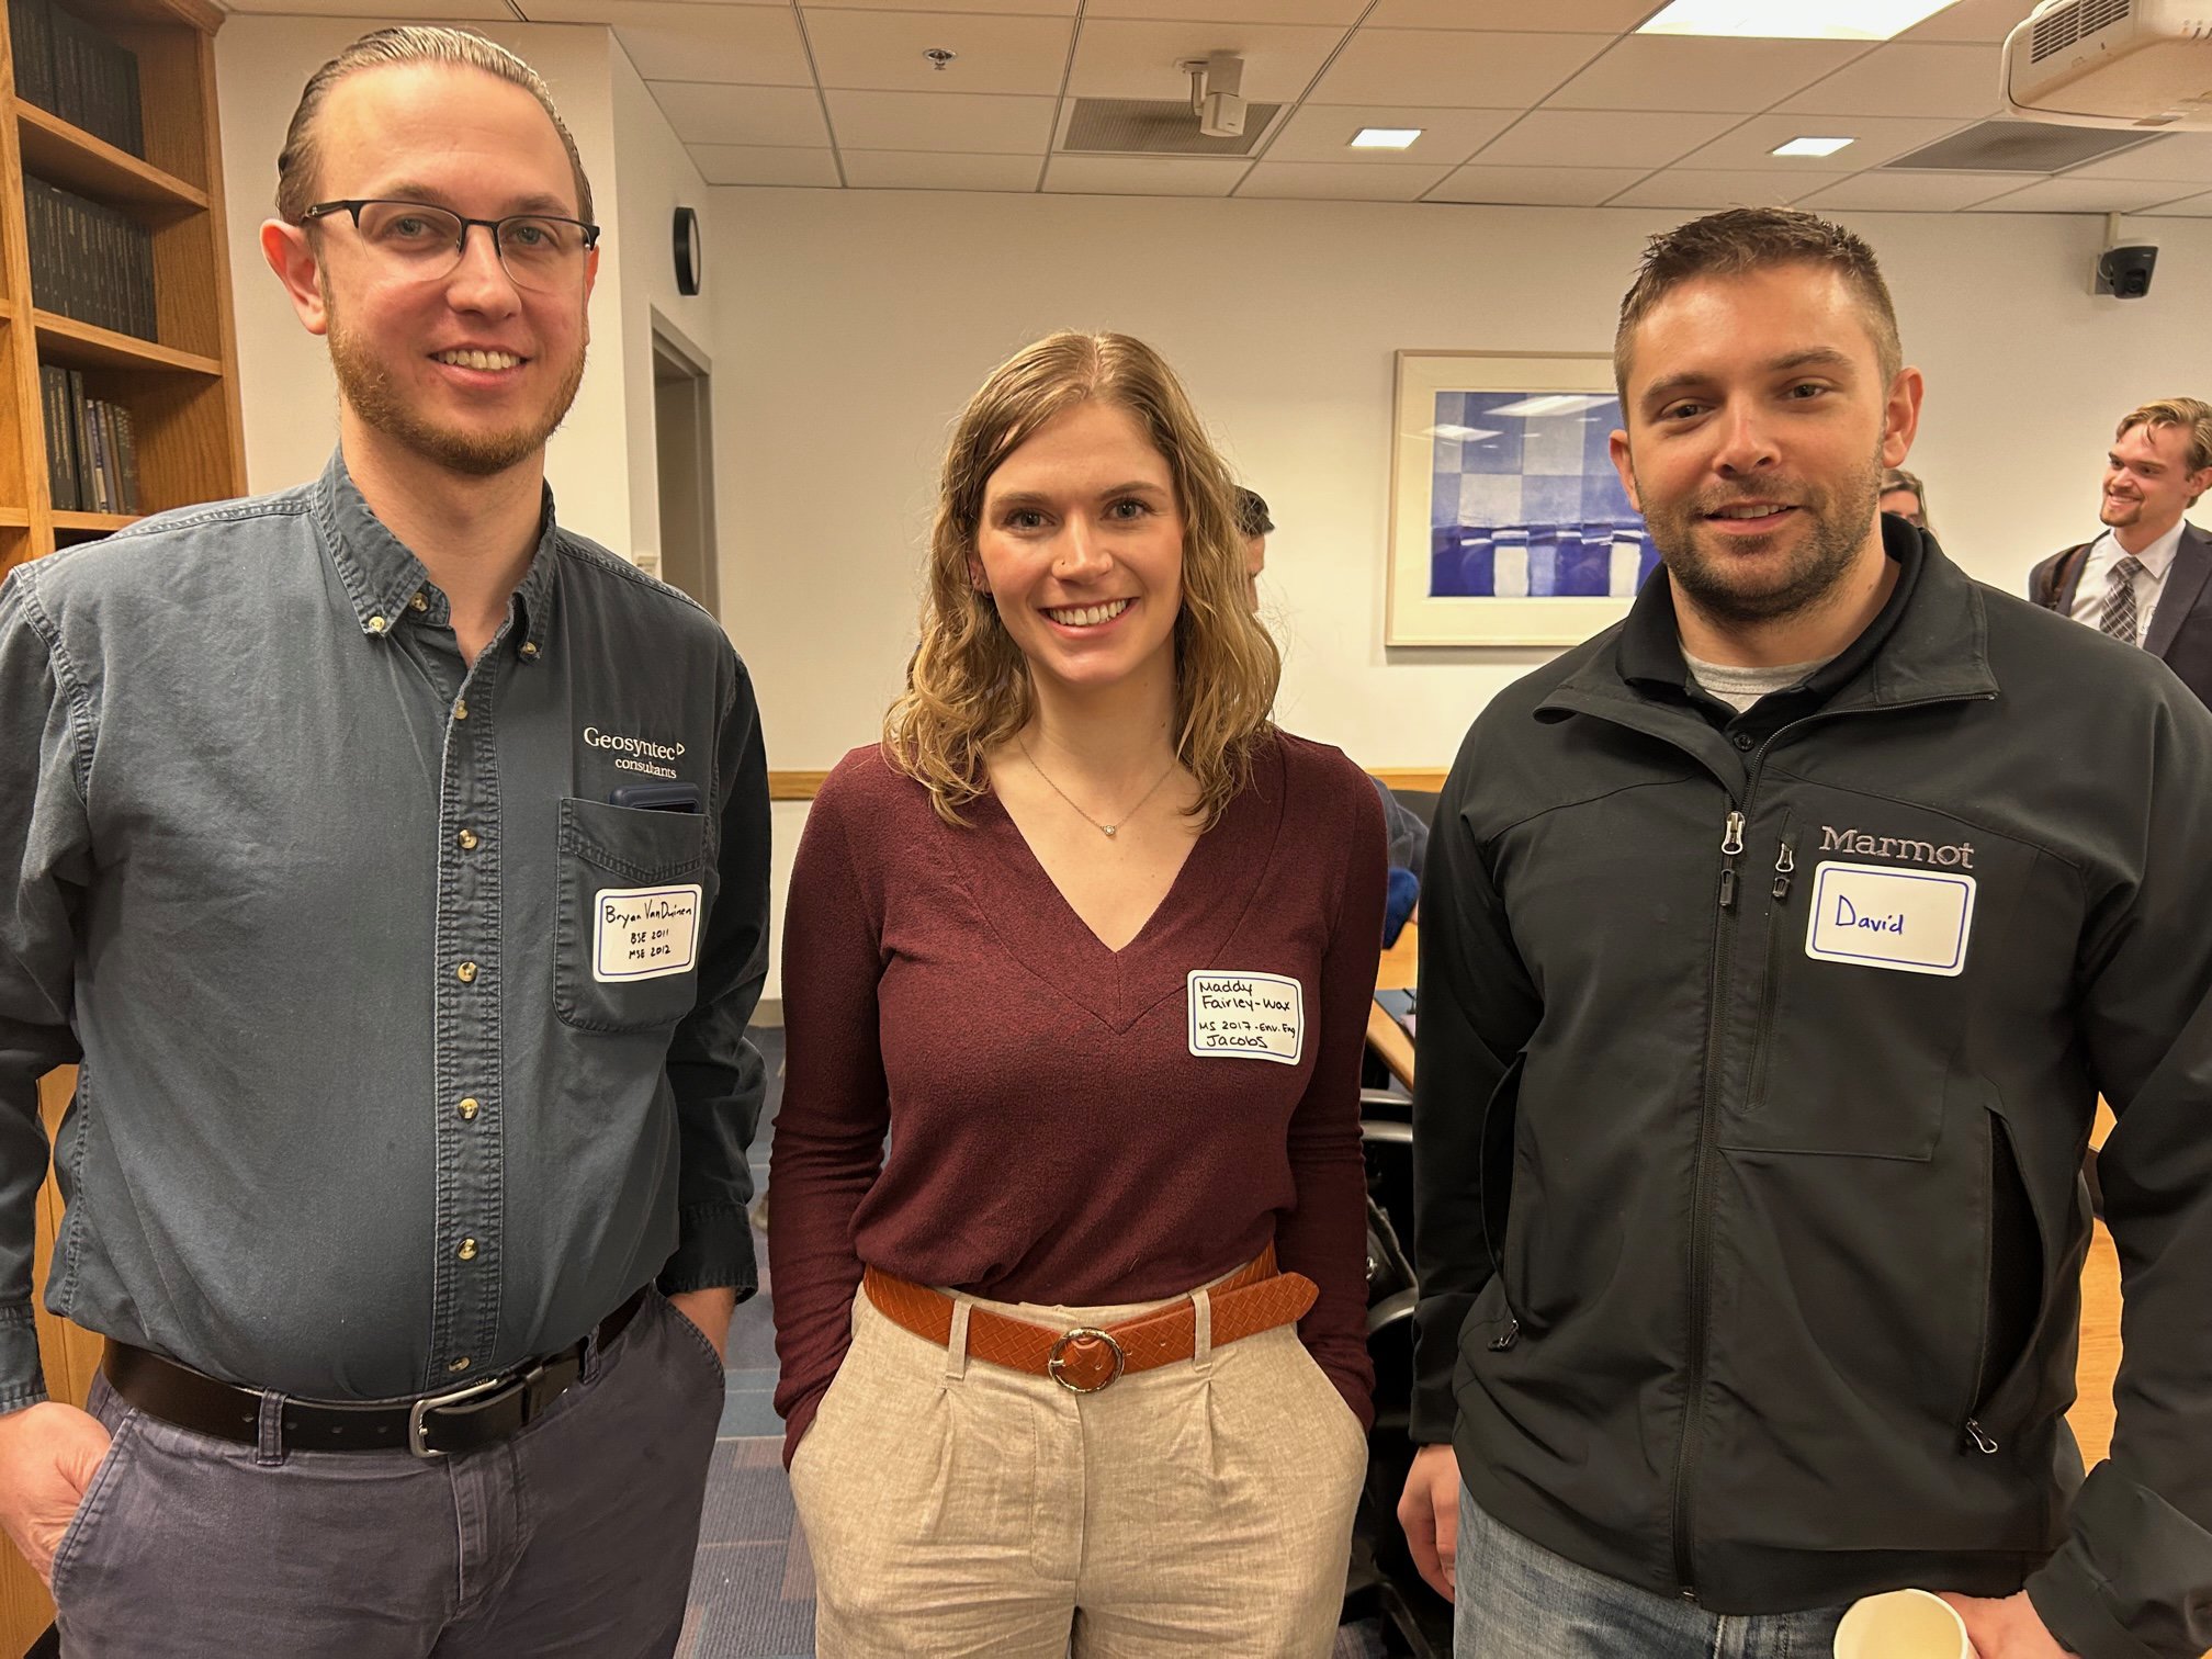
[(1332, 1646), (1385, 852), (1276, 679), (1166, 363), (1055, 334), (993, 372), (785, 920), (776, 1407), (823, 1655)]

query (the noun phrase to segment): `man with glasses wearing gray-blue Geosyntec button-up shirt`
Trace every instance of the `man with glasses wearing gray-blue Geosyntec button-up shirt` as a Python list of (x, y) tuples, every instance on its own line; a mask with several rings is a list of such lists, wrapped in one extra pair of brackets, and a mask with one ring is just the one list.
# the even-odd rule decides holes
[(93, 1659), (668, 1655), (757, 1283), (752, 690), (555, 524), (599, 232), (538, 75), (367, 35), (276, 206), (330, 467), (0, 588), (0, 1524)]

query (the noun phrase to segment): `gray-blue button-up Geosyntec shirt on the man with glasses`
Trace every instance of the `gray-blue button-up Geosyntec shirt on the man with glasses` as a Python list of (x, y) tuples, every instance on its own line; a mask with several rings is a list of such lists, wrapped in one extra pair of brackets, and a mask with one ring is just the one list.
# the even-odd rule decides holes
[(422, 1394), (754, 1287), (752, 686), (551, 502), (473, 666), (341, 458), (18, 568), (0, 878), (0, 1409), (71, 1060), (46, 1305), (215, 1376)]

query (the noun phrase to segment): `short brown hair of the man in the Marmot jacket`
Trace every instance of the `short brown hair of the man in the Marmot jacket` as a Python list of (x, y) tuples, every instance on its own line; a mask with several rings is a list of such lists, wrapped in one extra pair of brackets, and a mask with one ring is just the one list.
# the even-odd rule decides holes
[(1905, 347), (1898, 343), (1898, 307), (1874, 250), (1838, 223), (1796, 208), (1728, 208), (1674, 226), (1644, 248), (1637, 279), (1621, 299), (1621, 325), (1613, 332), (1613, 385), (1628, 407), (1628, 336), (1670, 292), (1699, 276), (1745, 276), (1774, 265), (1820, 265), (1843, 276), (1867, 316), (1882, 383), (1898, 378)]

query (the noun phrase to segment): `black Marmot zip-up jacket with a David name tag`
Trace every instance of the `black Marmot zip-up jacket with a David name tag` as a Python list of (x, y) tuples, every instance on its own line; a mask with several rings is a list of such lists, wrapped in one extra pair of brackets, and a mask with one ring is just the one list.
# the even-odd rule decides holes
[[(1891, 599), (1801, 690), (1703, 699), (1655, 577), (1469, 732), (1422, 885), (1413, 1436), (1717, 1613), (2026, 1584), (2088, 1659), (2194, 1659), (2212, 714), (1882, 531)], [(2084, 1482), (2099, 1091), (2128, 1318)]]

